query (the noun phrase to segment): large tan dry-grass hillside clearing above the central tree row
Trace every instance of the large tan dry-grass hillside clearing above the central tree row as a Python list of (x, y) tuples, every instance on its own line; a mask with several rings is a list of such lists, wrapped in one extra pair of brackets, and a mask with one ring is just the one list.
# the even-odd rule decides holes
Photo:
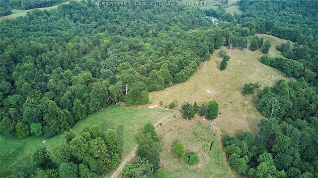
[[(275, 50), (271, 48), (269, 55), (276, 55)], [(248, 51), (245, 56), (243, 50), (235, 49), (231, 53), (227, 69), (220, 71), (222, 59), (218, 56), (218, 52), (216, 50), (207, 62), (205, 77), (203, 77), (204, 65), (200, 65), (197, 72), (186, 82), (162, 91), (151, 92), (150, 100), (154, 104), (163, 101), (163, 105), (168, 105), (173, 99), (177, 99), (179, 103), (196, 101), (198, 104), (216, 100), (221, 115), (214, 122), (220, 127), (221, 134), (238, 134), (244, 131), (256, 133), (257, 123), (263, 116), (254, 104), (256, 97), (241, 94), (243, 85), (258, 82), (262, 86), (272, 86), (280, 79), (287, 81), (294, 79), (287, 79), (282, 72), (262, 64), (259, 58), (263, 54), (259, 50)], [(213, 92), (208, 93), (207, 90)]]

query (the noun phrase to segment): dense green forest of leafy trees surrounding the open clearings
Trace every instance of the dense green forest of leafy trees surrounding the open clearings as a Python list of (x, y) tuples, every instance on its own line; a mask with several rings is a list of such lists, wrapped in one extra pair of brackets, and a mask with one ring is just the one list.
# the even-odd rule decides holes
[[(27, 6), (29, 1), (2, 0), (1, 15), (64, 1), (37, 2)], [(261, 62), (298, 81), (278, 81), (257, 93), (258, 110), (269, 119), (261, 120), (256, 135), (246, 132), (223, 138), (228, 161), (239, 174), (255, 178), (318, 177), (318, 2), (240, 0), (237, 4), (243, 12), (232, 16), (225, 6), (210, 10), (186, 5), (98, 6), (72, 0), (50, 11), (35, 9), (25, 17), (1, 20), (1, 134), (25, 138), (65, 133), (62, 143), (33, 153), (39, 158), (34, 160), (33, 177), (69, 173), (98, 177), (119, 163), (116, 133), (86, 126), (76, 134), (70, 129), (78, 120), (119, 101), (149, 103), (148, 92), (186, 81), (201, 61), (222, 46), (261, 48), (266, 54), (270, 43), (254, 35), (270, 34), (289, 42), (272, 46), (283, 57), (264, 55)], [(205, 15), (228, 23), (213, 24)], [(220, 68), (226, 70), (230, 54), (220, 52), (224, 58)], [(153, 126), (146, 125), (135, 139), (138, 158), (123, 174), (164, 173)], [(86, 146), (81, 154), (79, 145)], [(88, 154), (91, 151), (96, 155)], [(104, 167), (97, 168), (99, 164)], [(146, 171), (140, 172), (141, 168)], [(29, 176), (17, 171), (11, 177)]]

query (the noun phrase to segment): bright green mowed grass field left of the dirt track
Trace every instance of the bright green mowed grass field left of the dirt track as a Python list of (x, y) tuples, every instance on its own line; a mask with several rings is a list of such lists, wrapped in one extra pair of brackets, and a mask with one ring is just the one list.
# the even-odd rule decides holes
[[(99, 125), (105, 132), (111, 128), (117, 132), (120, 156), (125, 158), (136, 145), (133, 135), (147, 122), (157, 123), (162, 118), (173, 118), (173, 112), (164, 109), (136, 106), (110, 105), (76, 123), (73, 130), (79, 132), (82, 125)], [(46, 140), (45, 143), (42, 143)], [(9, 176), (13, 169), (32, 171), (31, 155), (39, 146), (51, 146), (60, 143), (62, 135), (52, 138), (31, 136), (25, 139), (0, 136), (0, 177)]]

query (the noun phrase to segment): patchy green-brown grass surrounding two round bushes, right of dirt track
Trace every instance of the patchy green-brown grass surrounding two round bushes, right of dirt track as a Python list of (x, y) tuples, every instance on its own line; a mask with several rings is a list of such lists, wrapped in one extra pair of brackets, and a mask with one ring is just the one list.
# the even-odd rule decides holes
[[(214, 136), (209, 122), (200, 120), (196, 117), (187, 122), (177, 117), (158, 129), (157, 133), (163, 140), (160, 167), (166, 171), (168, 178), (231, 178), (218, 138)], [(175, 142), (182, 142), (186, 151), (197, 153), (199, 164), (189, 166), (173, 156), (171, 149)], [(232, 174), (234, 178), (240, 178), (238, 174)]]

